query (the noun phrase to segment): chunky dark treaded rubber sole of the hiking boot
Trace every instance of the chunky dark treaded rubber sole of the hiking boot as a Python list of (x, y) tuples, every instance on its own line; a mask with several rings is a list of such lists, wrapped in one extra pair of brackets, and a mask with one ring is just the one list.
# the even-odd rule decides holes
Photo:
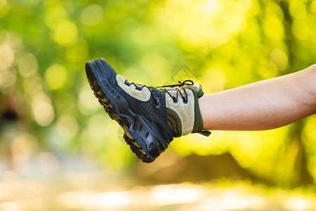
[[(105, 112), (124, 129), (124, 140), (131, 151), (143, 162), (152, 162), (159, 155), (150, 155), (153, 140), (157, 138), (145, 117), (136, 115), (129, 109), (126, 99), (116, 91), (107, 79), (109, 65), (103, 58), (95, 58), (86, 63), (86, 76), (94, 96)], [(159, 152), (160, 154), (160, 152)]]

